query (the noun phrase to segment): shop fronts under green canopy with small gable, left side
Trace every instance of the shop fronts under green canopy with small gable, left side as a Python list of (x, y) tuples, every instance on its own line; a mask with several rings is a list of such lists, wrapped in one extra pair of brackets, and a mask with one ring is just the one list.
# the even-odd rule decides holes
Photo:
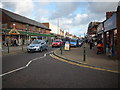
[(53, 37), (53, 35), (26, 32), (16, 29), (2, 29), (2, 43), (4, 46), (7, 46), (6, 42), (8, 42), (10, 46), (19, 46), (29, 43), (31, 39), (41, 38), (50, 40), (51, 37)]

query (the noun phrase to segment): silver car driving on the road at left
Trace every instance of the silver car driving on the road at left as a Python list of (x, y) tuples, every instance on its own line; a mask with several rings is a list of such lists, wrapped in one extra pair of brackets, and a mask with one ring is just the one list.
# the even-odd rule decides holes
[(48, 45), (44, 40), (34, 40), (31, 42), (29, 46), (27, 46), (27, 51), (33, 52), (33, 51), (40, 51), (47, 50)]

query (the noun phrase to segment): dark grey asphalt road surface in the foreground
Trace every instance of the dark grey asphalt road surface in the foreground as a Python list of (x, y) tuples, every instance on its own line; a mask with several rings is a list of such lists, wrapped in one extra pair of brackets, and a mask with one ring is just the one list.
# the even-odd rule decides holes
[(48, 54), (43, 57), (55, 49), (4, 56), (3, 74), (33, 61), (24, 69), (3, 75), (2, 88), (118, 88), (118, 73), (72, 65)]

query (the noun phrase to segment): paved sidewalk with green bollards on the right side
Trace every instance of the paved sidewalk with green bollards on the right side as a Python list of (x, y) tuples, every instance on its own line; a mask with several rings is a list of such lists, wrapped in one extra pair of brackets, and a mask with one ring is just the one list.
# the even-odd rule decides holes
[(54, 51), (54, 54), (58, 57), (78, 62), (81, 64), (87, 64), (93, 67), (103, 68), (103, 69), (109, 69), (109, 70), (116, 70), (118, 71), (118, 63), (120, 62), (118, 60), (115, 60), (111, 57), (108, 57), (104, 54), (96, 54), (97, 49), (96, 47), (93, 47), (92, 50), (89, 49), (89, 46), (86, 45), (86, 60), (83, 61), (83, 53), (84, 53), (84, 47), (77, 47), (77, 48), (71, 48), (70, 51), (64, 51), (61, 55), (60, 49), (57, 49)]

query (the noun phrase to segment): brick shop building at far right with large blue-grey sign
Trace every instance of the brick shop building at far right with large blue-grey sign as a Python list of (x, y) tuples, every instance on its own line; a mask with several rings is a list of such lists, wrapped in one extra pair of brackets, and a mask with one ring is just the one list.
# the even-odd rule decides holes
[(97, 35), (102, 38), (104, 53), (120, 60), (120, 11), (106, 12), (106, 20), (98, 26)]

